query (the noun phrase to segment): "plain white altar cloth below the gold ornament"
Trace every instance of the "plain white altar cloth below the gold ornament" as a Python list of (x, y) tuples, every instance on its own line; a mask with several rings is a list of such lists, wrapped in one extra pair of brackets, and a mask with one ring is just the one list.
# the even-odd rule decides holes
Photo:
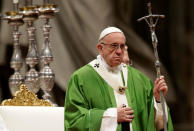
[(43, 106), (0, 106), (9, 131), (64, 131), (64, 108)]

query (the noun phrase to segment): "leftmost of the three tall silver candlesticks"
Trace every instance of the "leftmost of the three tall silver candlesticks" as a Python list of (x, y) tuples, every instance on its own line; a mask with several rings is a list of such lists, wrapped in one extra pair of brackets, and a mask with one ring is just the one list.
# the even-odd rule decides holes
[(6, 12), (5, 20), (8, 20), (8, 24), (13, 26), (13, 55), (11, 58), (11, 68), (14, 69), (14, 74), (9, 78), (9, 88), (11, 94), (19, 89), (19, 85), (23, 83), (24, 76), (20, 74), (20, 69), (23, 64), (23, 59), (20, 50), (19, 38), (21, 33), (19, 32), (19, 26), (23, 25), (22, 15), (18, 12), (18, 2), (17, 0), (13, 1), (14, 11)]

